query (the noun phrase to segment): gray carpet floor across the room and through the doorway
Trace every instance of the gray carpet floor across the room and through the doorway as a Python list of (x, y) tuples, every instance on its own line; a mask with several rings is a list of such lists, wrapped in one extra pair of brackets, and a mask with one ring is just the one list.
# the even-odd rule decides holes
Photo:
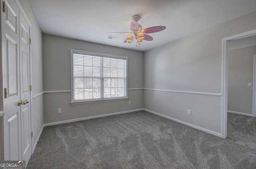
[(255, 169), (255, 119), (228, 114), (227, 139), (145, 111), (48, 126), (27, 169)]

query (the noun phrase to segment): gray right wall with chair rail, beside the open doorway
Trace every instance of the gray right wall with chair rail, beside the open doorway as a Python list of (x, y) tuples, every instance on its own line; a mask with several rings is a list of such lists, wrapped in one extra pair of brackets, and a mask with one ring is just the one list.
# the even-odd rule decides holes
[[(255, 18), (256, 12), (146, 51), (144, 87), (221, 93), (222, 38), (255, 29)], [(221, 105), (221, 96), (144, 90), (144, 108), (216, 133)]]

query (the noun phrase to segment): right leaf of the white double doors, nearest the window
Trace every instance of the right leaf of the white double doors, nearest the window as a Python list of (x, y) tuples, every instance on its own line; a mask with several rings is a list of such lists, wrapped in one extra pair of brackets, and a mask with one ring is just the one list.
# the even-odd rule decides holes
[(21, 104), (21, 149), (22, 160), (28, 163), (32, 154), (30, 137), (30, 48), (29, 48), (29, 26), (24, 17), (20, 14), (20, 99), (27, 100)]

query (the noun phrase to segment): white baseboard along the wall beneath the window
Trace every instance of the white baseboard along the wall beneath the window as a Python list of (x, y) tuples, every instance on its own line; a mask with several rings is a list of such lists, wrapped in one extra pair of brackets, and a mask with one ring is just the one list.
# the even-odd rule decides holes
[(128, 110), (128, 111), (124, 111), (124, 112), (116, 112), (116, 113), (110, 113), (110, 114), (102, 114), (102, 115), (98, 115), (98, 116), (90, 116), (90, 117), (84, 117), (84, 118), (76, 118), (76, 119), (72, 119), (72, 120), (64, 120), (64, 121), (60, 121), (60, 122), (46, 123), (46, 124), (44, 124), (44, 127), (46, 127), (46, 126), (53, 126), (53, 125), (57, 125), (57, 124), (78, 122), (78, 121), (88, 120), (88, 119), (92, 119), (92, 118), (113, 116), (113, 115), (116, 115), (116, 114), (124, 114), (124, 113), (136, 112), (136, 111), (141, 111), (141, 110), (143, 110), (143, 108), (136, 109), (136, 110)]

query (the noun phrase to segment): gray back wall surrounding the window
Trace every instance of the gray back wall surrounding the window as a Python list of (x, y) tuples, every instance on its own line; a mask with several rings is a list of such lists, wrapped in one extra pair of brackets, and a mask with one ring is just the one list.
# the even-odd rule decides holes
[[(44, 91), (71, 90), (70, 49), (128, 57), (128, 88), (143, 87), (143, 53), (43, 34)], [(143, 108), (143, 90), (128, 90), (128, 100), (71, 105), (71, 93), (44, 94), (44, 123)], [(58, 114), (58, 108), (62, 113)]]

